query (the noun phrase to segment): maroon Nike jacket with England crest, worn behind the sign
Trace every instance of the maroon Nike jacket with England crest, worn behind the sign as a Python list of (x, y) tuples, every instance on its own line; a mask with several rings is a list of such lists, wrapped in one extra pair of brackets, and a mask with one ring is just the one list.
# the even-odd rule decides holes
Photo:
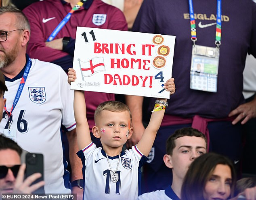
[[(86, 9), (86, 6), (88, 9)], [(31, 26), (31, 36), (27, 48), (27, 54), (31, 58), (51, 62), (68, 55), (67, 52), (46, 47), (45, 42), (50, 33), (52, 33), (70, 10), (70, 4), (63, 0), (44, 0), (31, 4), (23, 10)], [(106, 14), (105, 23), (100, 26), (92, 23), (93, 14)], [(55, 18), (50, 19), (53, 17)], [(65, 36), (75, 38), (77, 26), (122, 31), (128, 29), (122, 11), (114, 6), (105, 4), (101, 0), (87, 0), (83, 7), (71, 15), (70, 20), (57, 34), (55, 39)]]

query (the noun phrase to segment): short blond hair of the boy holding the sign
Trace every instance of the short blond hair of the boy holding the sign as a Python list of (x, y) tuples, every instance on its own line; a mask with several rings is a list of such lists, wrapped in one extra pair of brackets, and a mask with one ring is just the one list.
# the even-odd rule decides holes
[(94, 121), (96, 123), (97, 118), (101, 115), (103, 110), (108, 110), (111, 112), (119, 113), (123, 111), (128, 111), (130, 115), (130, 123), (132, 123), (132, 113), (128, 106), (120, 101), (105, 101), (97, 107), (94, 113)]

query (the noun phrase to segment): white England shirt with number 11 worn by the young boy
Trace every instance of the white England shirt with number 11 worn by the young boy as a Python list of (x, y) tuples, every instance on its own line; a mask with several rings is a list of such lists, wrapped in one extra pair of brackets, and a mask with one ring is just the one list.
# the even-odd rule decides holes
[[(78, 152), (83, 162), (85, 200), (134, 200), (140, 193), (141, 167), (147, 161), (136, 146), (121, 152), (118, 165), (119, 180), (114, 183), (110, 177), (110, 167), (106, 154), (94, 143)], [(116, 169), (118, 156), (109, 157), (113, 170)]]

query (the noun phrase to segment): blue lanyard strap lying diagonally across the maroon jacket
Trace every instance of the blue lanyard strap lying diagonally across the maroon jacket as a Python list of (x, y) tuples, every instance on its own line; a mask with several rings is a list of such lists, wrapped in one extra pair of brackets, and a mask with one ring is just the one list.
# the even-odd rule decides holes
[(71, 15), (73, 14), (73, 12), (75, 12), (76, 10), (78, 10), (83, 4), (84, 2), (86, 2), (87, 0), (80, 0), (80, 2), (78, 2), (76, 4), (76, 6), (74, 6), (69, 13), (67, 13), (66, 17), (64, 17), (64, 19), (57, 25), (57, 27), (52, 31), (52, 33), (50, 34), (50, 36), (47, 39), (47, 42), (52, 41), (56, 35), (59, 33), (59, 31), (61, 31), (61, 29), (63, 28), (63, 26), (65, 26), (65, 24), (69, 21)]

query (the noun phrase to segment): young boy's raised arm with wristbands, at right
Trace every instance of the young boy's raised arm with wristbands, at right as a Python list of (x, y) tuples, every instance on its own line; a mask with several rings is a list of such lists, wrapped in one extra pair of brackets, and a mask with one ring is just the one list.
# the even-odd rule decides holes
[[(171, 78), (168, 81), (166, 81), (166, 83), (164, 85), (165, 85), (164, 88), (167, 91), (170, 91), (170, 94), (174, 94), (174, 92), (175, 92), (174, 78)], [(163, 103), (167, 101), (167, 99), (160, 99), (160, 98), (157, 98), (157, 100), (163, 101)], [(160, 105), (163, 105), (163, 104), (160, 103)], [(152, 108), (152, 110), (153, 110), (153, 108)], [(155, 111), (151, 114), (149, 125), (145, 129), (145, 131), (141, 137), (141, 140), (137, 144), (138, 149), (145, 156), (149, 155), (149, 152), (153, 146), (156, 133), (157, 133), (157, 131), (162, 123), (163, 117), (164, 117), (164, 111), (165, 110), (162, 109), (162, 110)]]

